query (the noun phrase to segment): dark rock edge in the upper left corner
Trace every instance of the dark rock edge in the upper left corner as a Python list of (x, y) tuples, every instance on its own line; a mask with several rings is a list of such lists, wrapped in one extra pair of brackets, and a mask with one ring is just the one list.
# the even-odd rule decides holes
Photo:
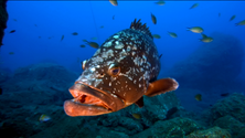
[(6, 10), (7, 0), (0, 0), (0, 47), (2, 45), (2, 38), (4, 35), (4, 29), (7, 28), (8, 12)]

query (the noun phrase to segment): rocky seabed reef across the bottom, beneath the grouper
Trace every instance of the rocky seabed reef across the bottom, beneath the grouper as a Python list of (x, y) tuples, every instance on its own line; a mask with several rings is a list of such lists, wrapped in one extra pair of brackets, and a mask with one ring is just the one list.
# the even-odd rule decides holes
[[(94, 117), (68, 117), (63, 102), (79, 74), (51, 63), (21, 67), (0, 82), (0, 132), (6, 138), (243, 138), (245, 97), (232, 94), (202, 115), (185, 110), (175, 92), (145, 97), (131, 105)], [(51, 117), (40, 121), (41, 115)], [(137, 114), (139, 117), (134, 117)]]

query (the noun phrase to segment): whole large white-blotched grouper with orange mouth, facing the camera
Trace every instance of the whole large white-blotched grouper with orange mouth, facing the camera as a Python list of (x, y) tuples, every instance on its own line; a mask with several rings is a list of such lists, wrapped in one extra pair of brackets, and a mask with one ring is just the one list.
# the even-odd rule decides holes
[(74, 99), (64, 103), (68, 116), (96, 116), (117, 112), (134, 103), (143, 106), (142, 96), (178, 88), (173, 78), (158, 79), (160, 62), (153, 38), (140, 20), (131, 23), (83, 62), (83, 74), (70, 88)]

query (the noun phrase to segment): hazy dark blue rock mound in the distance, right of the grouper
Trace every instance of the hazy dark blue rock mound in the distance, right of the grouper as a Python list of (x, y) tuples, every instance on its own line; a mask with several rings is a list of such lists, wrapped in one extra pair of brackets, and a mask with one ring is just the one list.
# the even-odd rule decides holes
[[(175, 63), (161, 77), (175, 78), (180, 87), (221, 92), (233, 86), (242, 72), (244, 49), (232, 35), (211, 34), (214, 41), (199, 45), (199, 49), (185, 60)], [(216, 88), (219, 87), (219, 88)]]

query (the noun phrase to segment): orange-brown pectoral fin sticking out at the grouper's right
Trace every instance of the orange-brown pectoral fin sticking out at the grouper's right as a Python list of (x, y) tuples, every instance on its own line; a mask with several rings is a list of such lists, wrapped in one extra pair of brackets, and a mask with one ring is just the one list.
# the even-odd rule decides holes
[(170, 91), (175, 91), (179, 87), (179, 84), (173, 78), (162, 78), (149, 83), (147, 93), (145, 95), (152, 97), (156, 95), (164, 94)]

